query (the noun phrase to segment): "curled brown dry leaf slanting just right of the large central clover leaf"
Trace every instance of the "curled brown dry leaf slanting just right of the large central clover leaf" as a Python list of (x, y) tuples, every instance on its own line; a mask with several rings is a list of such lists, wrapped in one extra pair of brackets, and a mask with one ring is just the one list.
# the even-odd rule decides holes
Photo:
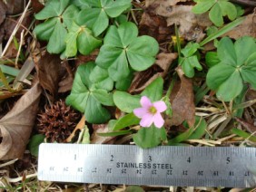
[(143, 91), (157, 77), (164, 77), (177, 56), (177, 53), (159, 53), (155, 65), (153, 65), (157, 70), (149, 69), (136, 73), (129, 92)]

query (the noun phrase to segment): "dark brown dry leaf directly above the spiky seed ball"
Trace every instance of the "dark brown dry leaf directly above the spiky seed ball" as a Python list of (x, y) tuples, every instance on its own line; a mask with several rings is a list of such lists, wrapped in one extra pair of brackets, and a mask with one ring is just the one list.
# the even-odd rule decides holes
[(66, 72), (59, 55), (45, 53), (38, 62), (35, 62), (35, 69), (42, 87), (55, 97), (58, 83)]

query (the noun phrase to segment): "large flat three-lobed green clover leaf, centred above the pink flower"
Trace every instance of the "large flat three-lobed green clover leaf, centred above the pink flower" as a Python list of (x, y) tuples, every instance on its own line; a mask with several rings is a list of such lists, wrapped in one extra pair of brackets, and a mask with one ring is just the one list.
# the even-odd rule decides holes
[(96, 59), (96, 64), (108, 70), (109, 76), (117, 82), (134, 71), (143, 71), (153, 65), (159, 51), (158, 43), (153, 37), (138, 35), (135, 24), (127, 22), (111, 26), (104, 37), (104, 44)]

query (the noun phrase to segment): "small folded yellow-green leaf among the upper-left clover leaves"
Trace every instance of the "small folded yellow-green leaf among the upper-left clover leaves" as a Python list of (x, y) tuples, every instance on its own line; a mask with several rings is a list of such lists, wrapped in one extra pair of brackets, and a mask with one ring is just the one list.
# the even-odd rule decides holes
[(79, 26), (73, 23), (66, 35), (65, 56), (73, 57), (76, 55), (77, 50), (86, 55), (92, 53), (101, 44), (102, 41), (96, 39), (93, 32), (86, 28), (86, 26)]

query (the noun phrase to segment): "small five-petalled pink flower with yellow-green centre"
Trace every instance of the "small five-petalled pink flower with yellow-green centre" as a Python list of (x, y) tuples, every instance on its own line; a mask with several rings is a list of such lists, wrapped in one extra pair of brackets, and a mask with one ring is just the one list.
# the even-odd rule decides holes
[(161, 112), (167, 109), (163, 101), (151, 102), (149, 98), (143, 96), (141, 99), (142, 108), (133, 110), (133, 113), (138, 118), (142, 119), (140, 125), (142, 127), (150, 127), (152, 124), (157, 128), (162, 128), (164, 120), (162, 119)]

